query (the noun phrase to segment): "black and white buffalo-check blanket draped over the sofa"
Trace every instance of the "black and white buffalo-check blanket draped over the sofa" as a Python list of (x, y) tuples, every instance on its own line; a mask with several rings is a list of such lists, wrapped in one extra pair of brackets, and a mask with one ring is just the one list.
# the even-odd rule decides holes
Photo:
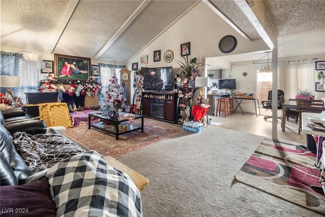
[(140, 192), (96, 151), (80, 153), (46, 174), (56, 216), (142, 216)]

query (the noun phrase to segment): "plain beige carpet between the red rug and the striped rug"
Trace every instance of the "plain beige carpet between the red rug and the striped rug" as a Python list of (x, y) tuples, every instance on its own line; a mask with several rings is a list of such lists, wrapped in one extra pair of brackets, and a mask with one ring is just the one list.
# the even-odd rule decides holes
[(209, 126), (118, 160), (149, 179), (143, 216), (323, 216), (234, 177), (264, 139)]

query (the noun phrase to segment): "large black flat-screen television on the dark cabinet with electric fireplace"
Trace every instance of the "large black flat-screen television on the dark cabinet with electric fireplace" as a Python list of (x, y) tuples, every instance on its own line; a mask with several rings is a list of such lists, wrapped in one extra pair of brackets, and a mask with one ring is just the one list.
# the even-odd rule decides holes
[(172, 90), (173, 67), (144, 69), (144, 89)]

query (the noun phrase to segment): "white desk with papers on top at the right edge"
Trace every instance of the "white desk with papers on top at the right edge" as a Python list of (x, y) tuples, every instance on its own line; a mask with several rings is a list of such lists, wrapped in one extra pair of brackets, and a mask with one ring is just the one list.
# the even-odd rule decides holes
[[(312, 130), (309, 127), (307, 127), (307, 123), (309, 123), (308, 116), (313, 116), (313, 117), (324, 117), (324, 113), (311, 113), (311, 112), (302, 112), (301, 113), (301, 129), (304, 134), (308, 135), (317, 135), (317, 136), (323, 136), (325, 137), (325, 132), (324, 131), (316, 131)], [(318, 147), (321, 148), (321, 147)], [(323, 153), (324, 154), (324, 153)], [(325, 177), (325, 167), (321, 168), (321, 176)], [(321, 180), (325, 181), (325, 179)], [(322, 184), (322, 190), (325, 194), (325, 185)]]

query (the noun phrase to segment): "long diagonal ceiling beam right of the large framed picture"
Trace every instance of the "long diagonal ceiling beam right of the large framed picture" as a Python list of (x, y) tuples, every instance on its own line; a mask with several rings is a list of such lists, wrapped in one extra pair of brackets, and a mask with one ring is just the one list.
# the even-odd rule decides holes
[(137, 18), (137, 16), (147, 7), (151, 0), (144, 0), (137, 10), (124, 22), (124, 24), (117, 30), (117, 32), (110, 38), (106, 44), (92, 57), (93, 59), (99, 59), (103, 53), (118, 39), (125, 29), (131, 25), (131, 23)]

